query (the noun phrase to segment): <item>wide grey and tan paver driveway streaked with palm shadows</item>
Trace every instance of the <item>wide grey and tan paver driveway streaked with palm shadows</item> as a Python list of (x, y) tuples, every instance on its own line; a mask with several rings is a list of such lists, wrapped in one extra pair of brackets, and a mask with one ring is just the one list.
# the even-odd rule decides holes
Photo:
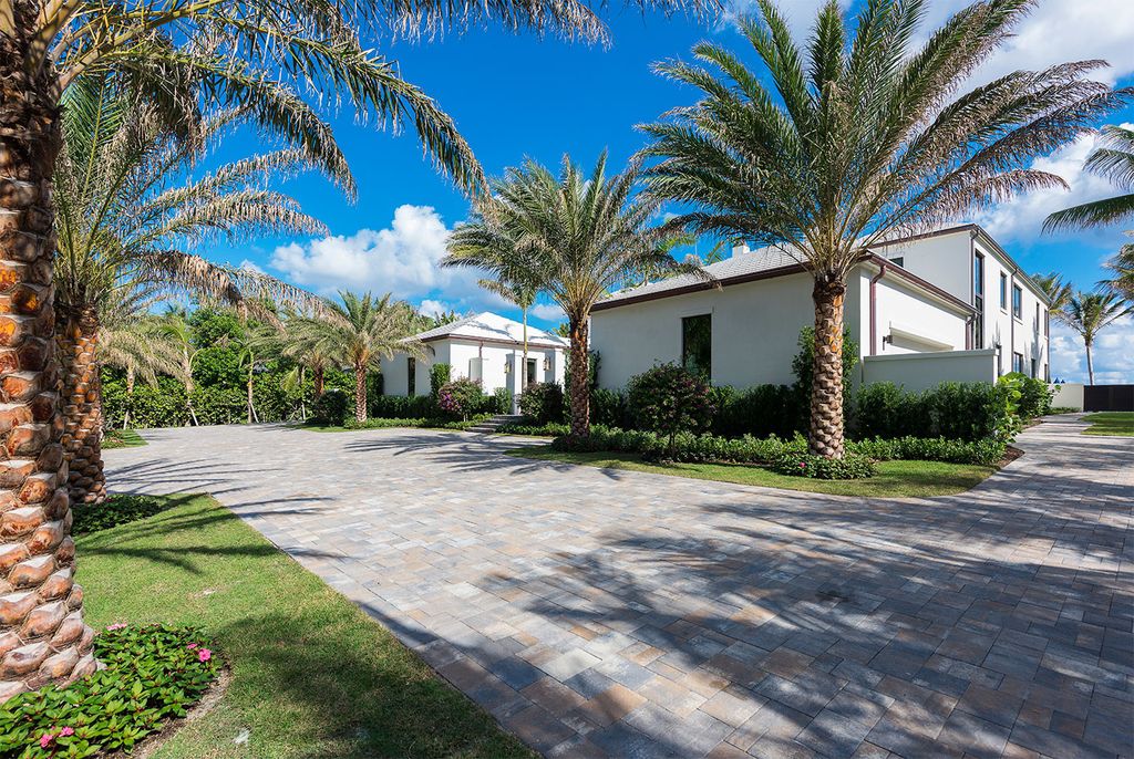
[(839, 498), (460, 433), (147, 432), (550, 756), (1132, 756), (1134, 440), (1063, 418), (970, 493)]

